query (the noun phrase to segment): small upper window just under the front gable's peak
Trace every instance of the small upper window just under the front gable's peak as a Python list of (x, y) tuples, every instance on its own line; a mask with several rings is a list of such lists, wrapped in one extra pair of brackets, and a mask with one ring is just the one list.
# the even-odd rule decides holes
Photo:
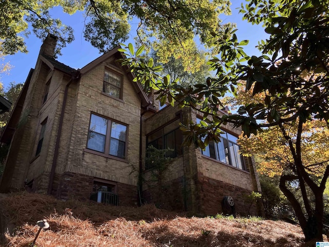
[(121, 98), (122, 76), (105, 68), (103, 92), (109, 96)]

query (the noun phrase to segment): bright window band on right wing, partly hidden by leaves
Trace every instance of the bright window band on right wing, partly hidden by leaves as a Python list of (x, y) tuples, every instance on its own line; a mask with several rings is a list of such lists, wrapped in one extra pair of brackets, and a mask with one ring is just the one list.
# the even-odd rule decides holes
[[(200, 119), (197, 118), (197, 123)], [(243, 157), (239, 154), (239, 146), (236, 144), (237, 137), (224, 132), (221, 134), (221, 142), (209, 142), (205, 150), (201, 150), (203, 155), (215, 158), (225, 164), (245, 170)]]

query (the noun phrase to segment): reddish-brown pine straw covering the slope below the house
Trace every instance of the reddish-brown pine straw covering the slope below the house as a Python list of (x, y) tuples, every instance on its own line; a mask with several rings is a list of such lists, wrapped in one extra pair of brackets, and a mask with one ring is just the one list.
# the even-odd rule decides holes
[(12, 194), (0, 207), (17, 227), (4, 246), (30, 246), (47, 219), (36, 246), (302, 246), (299, 226), (282, 221), (185, 218), (176, 213), (142, 207), (114, 207), (77, 201), (59, 201), (40, 194)]

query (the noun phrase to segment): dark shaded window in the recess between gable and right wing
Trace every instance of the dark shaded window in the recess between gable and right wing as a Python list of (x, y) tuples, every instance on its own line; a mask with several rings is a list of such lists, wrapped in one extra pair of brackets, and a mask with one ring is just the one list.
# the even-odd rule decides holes
[[(165, 127), (153, 132), (147, 136), (147, 147), (153, 146), (156, 149), (170, 149), (166, 151), (167, 157), (176, 157), (182, 154), (182, 135), (179, 129), (180, 120), (177, 119), (174, 122), (169, 123)], [(151, 168), (146, 164), (146, 169)]]

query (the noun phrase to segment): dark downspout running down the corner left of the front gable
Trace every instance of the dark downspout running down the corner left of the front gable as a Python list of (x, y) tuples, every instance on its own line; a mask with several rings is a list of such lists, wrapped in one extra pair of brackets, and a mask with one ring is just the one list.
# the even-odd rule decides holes
[(49, 185), (48, 185), (48, 192), (47, 192), (48, 195), (51, 195), (53, 179), (55, 177), (55, 171), (56, 171), (56, 166), (57, 166), (57, 157), (58, 157), (58, 152), (59, 152), (59, 148), (60, 148), (60, 140), (61, 140), (61, 134), (62, 134), (63, 121), (64, 121), (67, 94), (68, 94), (68, 87), (70, 86), (72, 81), (78, 79), (79, 76), (80, 76), (80, 69), (78, 69), (75, 74), (71, 75), (71, 79), (65, 86), (64, 98), (63, 98), (63, 104), (62, 104), (62, 110), (61, 110), (61, 117), (60, 117), (60, 122), (59, 122), (59, 126), (58, 126), (58, 131), (57, 131), (56, 145), (55, 145), (55, 150), (54, 150), (54, 154), (53, 154), (53, 158), (52, 158), (52, 165), (51, 165), (51, 170), (50, 170), (50, 175), (49, 175)]

